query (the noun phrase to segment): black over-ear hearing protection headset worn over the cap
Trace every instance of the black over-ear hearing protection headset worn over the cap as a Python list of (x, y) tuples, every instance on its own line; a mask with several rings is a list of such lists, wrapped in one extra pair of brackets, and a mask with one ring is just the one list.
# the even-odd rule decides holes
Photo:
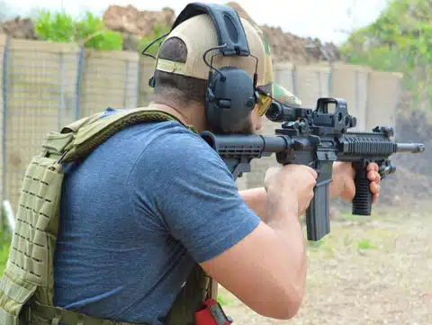
[[(206, 50), (202, 56), (204, 63), (210, 68), (204, 99), (206, 119), (211, 127), (229, 132), (238, 129), (238, 127), (241, 128), (241, 125), (248, 123), (250, 113), (258, 102), (258, 59), (250, 54), (246, 32), (238, 13), (228, 5), (202, 3), (186, 5), (176, 18), (171, 31), (180, 23), (198, 14), (209, 14), (211, 16), (219, 43), (217, 47)], [(148, 47), (150, 45), (151, 43)], [(218, 54), (222, 54), (225, 57), (250, 56), (255, 58), (256, 70), (254, 77), (250, 77), (245, 70), (240, 68), (214, 68), (212, 66), (213, 57), (218, 54), (214, 54), (211, 57), (211, 63), (206, 59), (207, 54), (211, 50), (219, 50)], [(155, 86), (154, 77), (150, 78), (149, 86)]]

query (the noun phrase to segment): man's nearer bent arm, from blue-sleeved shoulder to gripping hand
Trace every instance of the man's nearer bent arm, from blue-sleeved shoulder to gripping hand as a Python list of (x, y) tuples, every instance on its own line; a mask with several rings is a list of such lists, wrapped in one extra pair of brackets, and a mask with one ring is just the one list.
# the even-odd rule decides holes
[[(263, 222), (238, 194), (225, 163), (201, 139), (158, 137), (143, 157), (136, 165), (142, 186), (155, 184), (143, 202), (157, 206), (155, 218), (169, 236), (249, 308), (266, 317), (292, 318), (304, 293), (306, 255), (298, 215), (311, 200), (311, 168), (285, 167), (275, 177), (267, 188)], [(152, 168), (158, 173), (146, 173)], [(300, 185), (288, 185), (293, 178)]]

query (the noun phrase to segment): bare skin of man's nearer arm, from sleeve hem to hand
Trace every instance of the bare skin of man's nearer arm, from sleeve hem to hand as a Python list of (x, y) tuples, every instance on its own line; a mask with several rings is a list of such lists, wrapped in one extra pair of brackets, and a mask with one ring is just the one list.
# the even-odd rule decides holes
[[(295, 185), (287, 185), (288, 179)], [(307, 263), (298, 217), (309, 205), (315, 183), (316, 173), (310, 167), (281, 169), (266, 182), (266, 222), (220, 256), (201, 263), (209, 275), (263, 316), (291, 319), (302, 304)]]

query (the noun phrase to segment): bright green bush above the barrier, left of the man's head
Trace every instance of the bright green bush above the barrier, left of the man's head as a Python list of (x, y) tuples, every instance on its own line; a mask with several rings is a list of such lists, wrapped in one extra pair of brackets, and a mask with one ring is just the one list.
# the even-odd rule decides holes
[(102, 19), (89, 12), (76, 22), (66, 13), (40, 11), (35, 28), (45, 41), (84, 43), (86, 48), (95, 50), (122, 50), (121, 34), (106, 29)]

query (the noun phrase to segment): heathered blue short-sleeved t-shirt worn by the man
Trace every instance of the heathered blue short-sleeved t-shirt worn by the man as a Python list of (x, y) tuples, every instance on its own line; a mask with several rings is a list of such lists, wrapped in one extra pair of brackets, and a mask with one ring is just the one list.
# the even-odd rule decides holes
[(194, 261), (259, 223), (219, 155), (178, 122), (123, 129), (65, 173), (55, 304), (95, 317), (163, 324)]

